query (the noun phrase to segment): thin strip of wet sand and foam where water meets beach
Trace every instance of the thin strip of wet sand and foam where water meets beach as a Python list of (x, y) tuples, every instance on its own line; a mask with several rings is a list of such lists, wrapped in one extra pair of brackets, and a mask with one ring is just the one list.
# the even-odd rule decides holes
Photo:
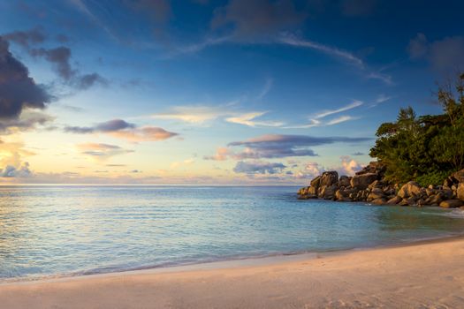
[(464, 242), (464, 231), (459, 235), (447, 235), (441, 237), (429, 237), (423, 239), (417, 239), (412, 241), (406, 241), (397, 244), (388, 245), (373, 245), (364, 247), (355, 247), (347, 249), (332, 249), (325, 251), (299, 251), (299, 252), (280, 252), (270, 255), (262, 256), (249, 256), (243, 258), (232, 258), (224, 260), (209, 260), (203, 262), (193, 262), (171, 266), (155, 266), (155, 267), (135, 267), (135, 268), (121, 268), (115, 271), (109, 272), (92, 272), (87, 270), (83, 272), (76, 272), (70, 274), (57, 274), (57, 275), (44, 275), (37, 277), (11, 277), (6, 279), (0, 279), (0, 289), (4, 285), (14, 284), (34, 284), (34, 283), (59, 283), (68, 280), (80, 280), (87, 278), (104, 278), (114, 277), (118, 275), (143, 275), (143, 274), (167, 274), (177, 272), (190, 272), (190, 271), (201, 271), (201, 270), (212, 270), (212, 269), (232, 269), (232, 268), (247, 268), (247, 267), (259, 267), (273, 264), (280, 264), (291, 261), (300, 260), (315, 260), (321, 258), (327, 258), (331, 256), (339, 256), (349, 254), (350, 252), (369, 252), (383, 249), (392, 248), (403, 248), (403, 247), (414, 247), (416, 245), (431, 245), (448, 243), (453, 241)]

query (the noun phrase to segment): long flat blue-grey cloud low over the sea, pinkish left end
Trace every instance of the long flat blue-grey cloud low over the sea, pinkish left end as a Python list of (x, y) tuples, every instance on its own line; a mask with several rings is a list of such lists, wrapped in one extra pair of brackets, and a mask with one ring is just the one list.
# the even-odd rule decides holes
[[(316, 156), (310, 147), (328, 145), (333, 143), (361, 143), (368, 141), (368, 138), (349, 138), (349, 137), (314, 137), (308, 135), (282, 135), (269, 134), (262, 135), (254, 139), (234, 141), (228, 144), (227, 150), (219, 148), (220, 153), (212, 156), (205, 156), (205, 160), (222, 161), (225, 158), (234, 160), (244, 159), (272, 159), (285, 158), (292, 156)], [(237, 152), (236, 148), (242, 149)]]

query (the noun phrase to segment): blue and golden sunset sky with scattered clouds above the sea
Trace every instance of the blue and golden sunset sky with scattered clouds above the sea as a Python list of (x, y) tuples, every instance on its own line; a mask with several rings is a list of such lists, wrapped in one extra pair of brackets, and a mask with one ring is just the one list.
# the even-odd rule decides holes
[(464, 70), (462, 1), (0, 0), (0, 183), (353, 175)]

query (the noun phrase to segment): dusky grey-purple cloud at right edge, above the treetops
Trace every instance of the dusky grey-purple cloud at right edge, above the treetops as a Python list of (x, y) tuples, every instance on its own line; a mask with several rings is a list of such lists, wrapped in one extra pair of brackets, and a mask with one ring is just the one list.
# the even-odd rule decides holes
[(454, 72), (464, 67), (463, 36), (428, 41), (425, 34), (417, 34), (409, 41), (407, 52), (413, 60), (425, 59), (437, 72)]

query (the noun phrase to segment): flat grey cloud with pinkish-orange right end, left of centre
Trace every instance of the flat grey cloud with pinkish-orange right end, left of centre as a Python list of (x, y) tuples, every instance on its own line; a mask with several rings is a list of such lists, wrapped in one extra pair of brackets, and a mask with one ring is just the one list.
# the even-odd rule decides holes
[(157, 141), (179, 135), (156, 126), (137, 127), (135, 124), (127, 123), (123, 119), (113, 119), (94, 126), (66, 126), (64, 130), (65, 132), (78, 134), (105, 133), (132, 142)]

